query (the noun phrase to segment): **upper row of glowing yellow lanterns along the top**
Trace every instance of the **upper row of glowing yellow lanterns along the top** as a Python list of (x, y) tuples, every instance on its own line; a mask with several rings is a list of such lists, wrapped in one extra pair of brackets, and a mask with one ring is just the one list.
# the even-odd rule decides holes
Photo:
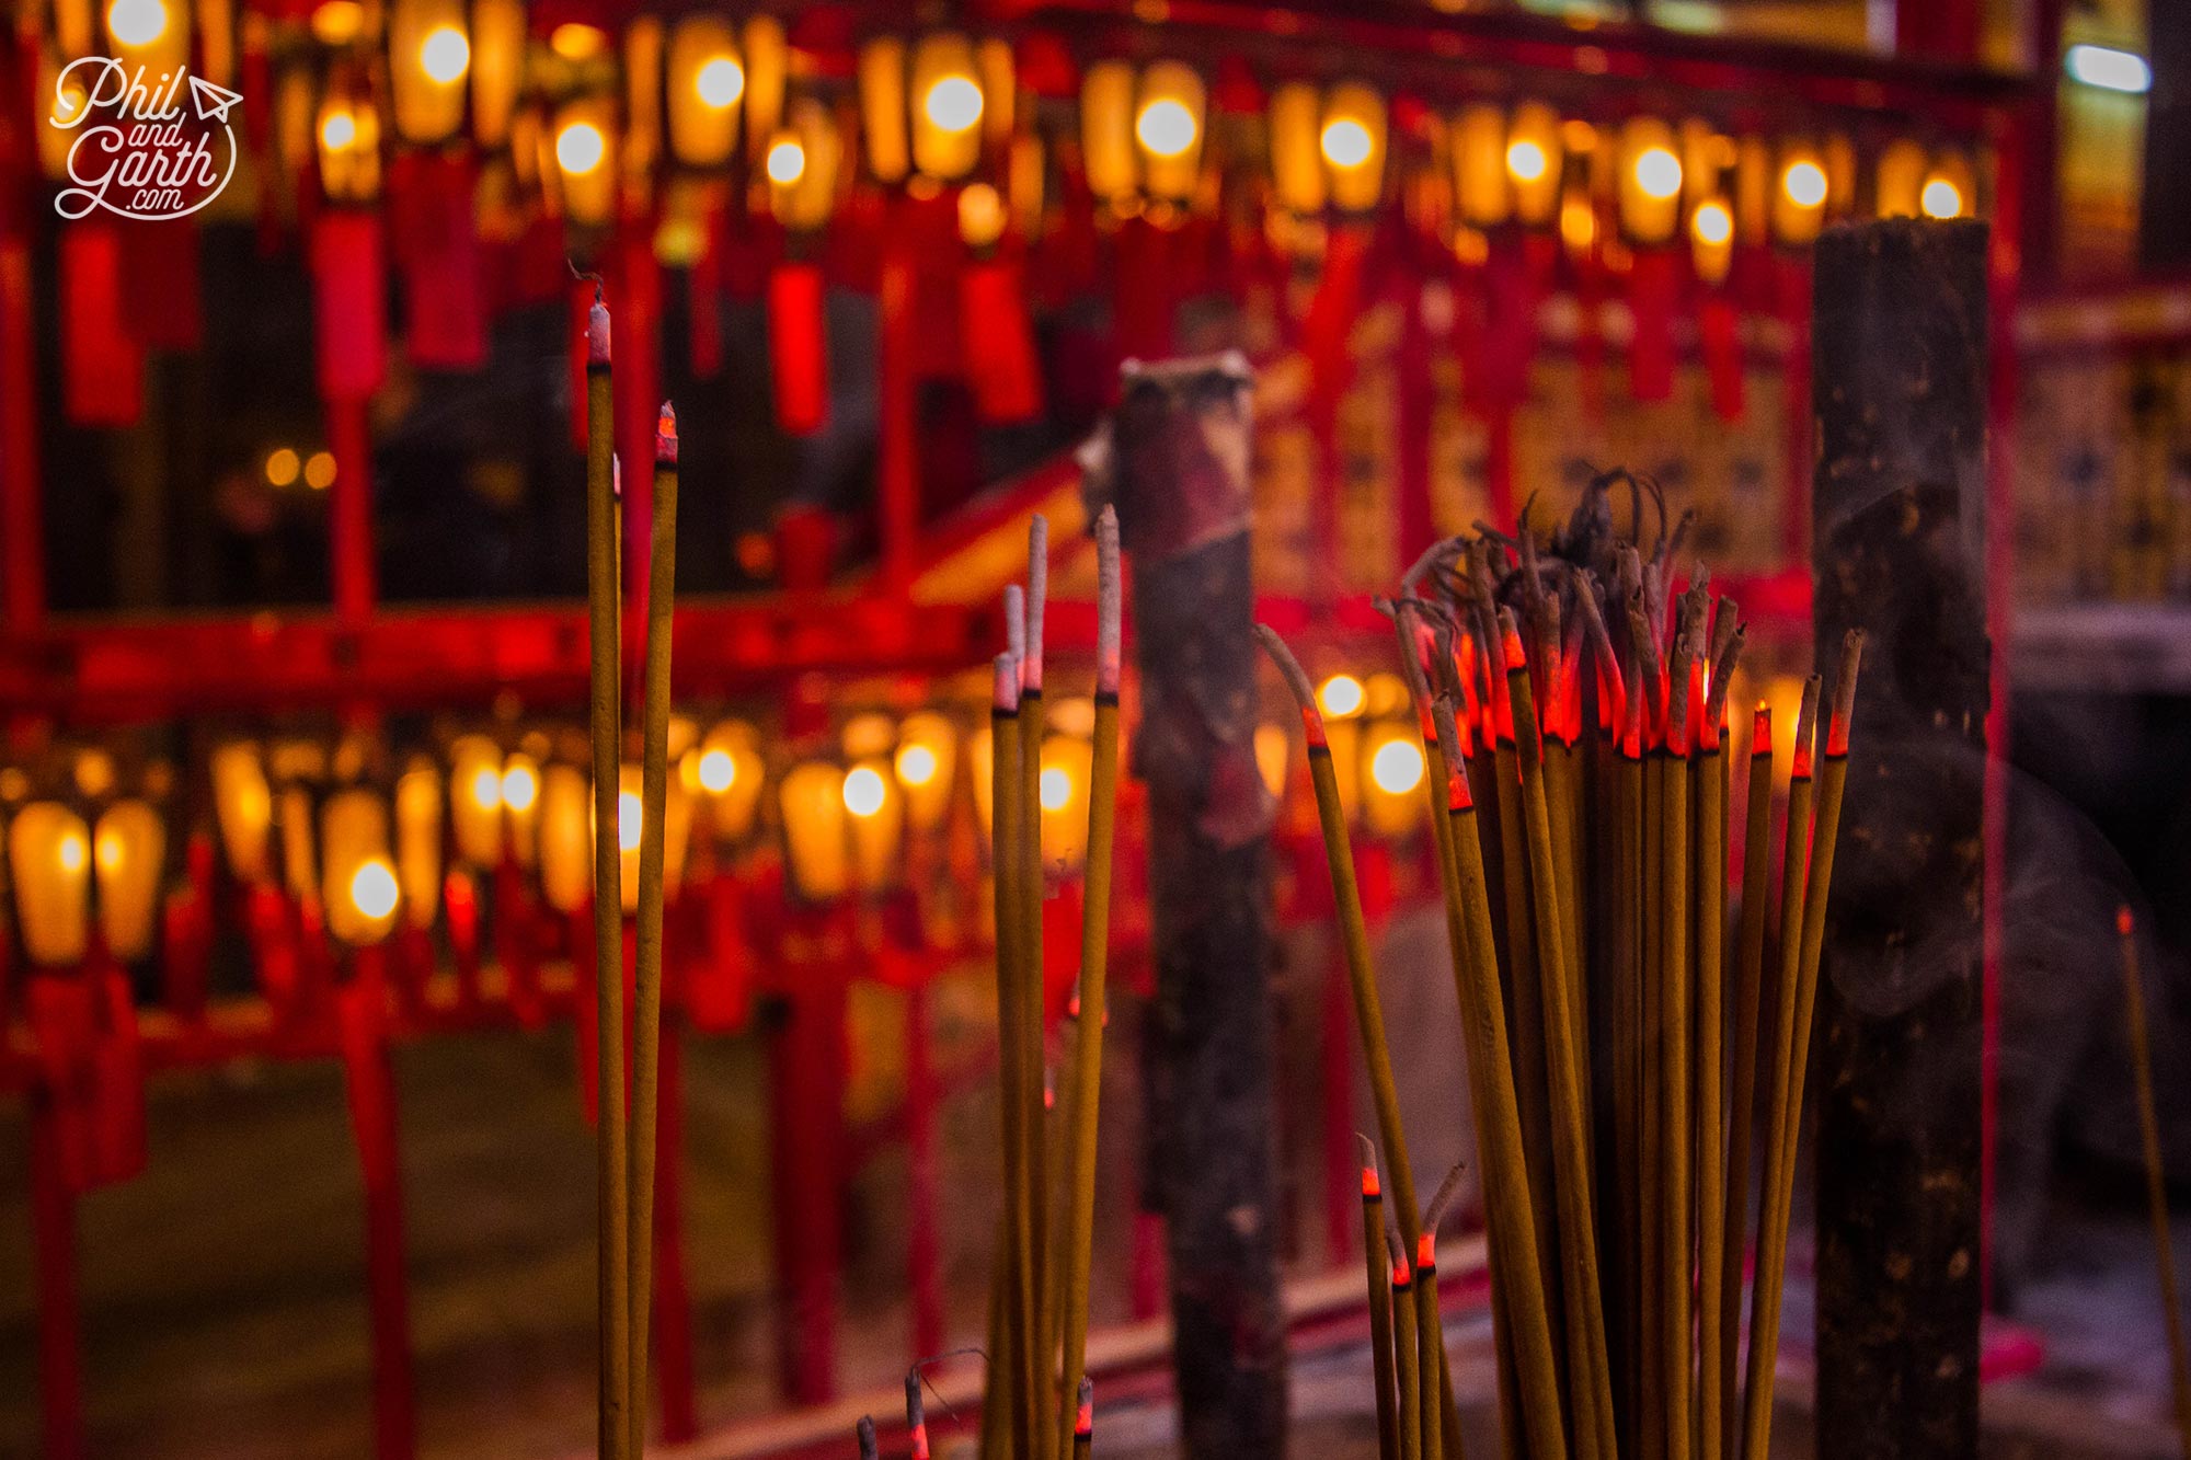
[[(50, 0), (48, 94), (64, 57), (92, 46), (90, 0)], [(230, 0), (197, 0), (197, 66), (228, 83), (237, 24)], [(1595, 125), (1542, 101), (1407, 110), (1396, 147), (1391, 99), (1365, 81), (1212, 88), (1177, 59), (1100, 59), (1078, 70), (1054, 46), (1019, 50), (957, 31), (868, 39), (850, 83), (804, 75), (776, 18), (719, 11), (640, 15), (620, 37), (561, 24), (528, 37), (521, 0), (322, 0), (311, 44), (243, 20), (245, 48), (278, 70), (276, 147), (294, 167), (316, 153), (335, 199), (379, 191), (381, 112), (412, 149), (469, 140), (506, 156), (519, 191), (576, 224), (600, 226), (662, 173), (752, 180), (756, 206), (789, 230), (822, 228), (850, 182), (848, 160), (881, 186), (968, 186), (968, 241), (1010, 219), (1030, 235), (1045, 208), (1045, 147), (1080, 156), (1087, 186), (1113, 213), (1207, 206), (1214, 167), (1260, 162), (1271, 199), (1295, 217), (1367, 213), (1393, 195), (1396, 153), (1464, 230), (1553, 228), (1569, 243), (1617, 224), (1630, 246), (1687, 232), (1705, 272), (1733, 243), (1808, 243), (1858, 208), (1957, 217), (1974, 210), (1976, 171), (1959, 149), (1913, 138), (1862, 162), (1847, 136), (1768, 140), (1687, 118), (1630, 116)], [(107, 0), (101, 42), (147, 75), (191, 59), (180, 0)], [(1069, 96), (1078, 112), (1036, 96)], [(1071, 116), (1060, 132), (1058, 118)], [(1214, 132), (1216, 127), (1216, 132)], [(53, 147), (68, 134), (42, 129)], [(309, 140), (307, 140), (309, 138)], [(1223, 138), (1223, 149), (1212, 140)], [(1214, 158), (1216, 151), (1223, 156)], [(59, 156), (48, 156), (59, 164)], [(1420, 182), (1420, 186), (1418, 186)], [(979, 237), (988, 235), (988, 237)]]

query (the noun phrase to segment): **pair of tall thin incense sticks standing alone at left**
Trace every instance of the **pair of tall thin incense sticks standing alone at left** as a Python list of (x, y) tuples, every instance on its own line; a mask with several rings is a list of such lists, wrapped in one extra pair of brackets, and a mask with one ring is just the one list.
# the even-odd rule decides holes
[(638, 1456), (646, 1440), (646, 1335), (653, 1291), (655, 1111), (662, 1052), (662, 899), (668, 800), (670, 616), (677, 598), (677, 412), (655, 425), (653, 552), (646, 563), (646, 658), (640, 691), (640, 888), (631, 1019), (629, 1105), (624, 1083), (624, 936), (618, 851), (622, 765), (622, 500), (611, 449), (609, 309), (594, 289), (587, 316), (585, 476), (587, 618), (592, 627), (594, 750), (594, 984), (600, 1094), (598, 1287), (600, 1456)]

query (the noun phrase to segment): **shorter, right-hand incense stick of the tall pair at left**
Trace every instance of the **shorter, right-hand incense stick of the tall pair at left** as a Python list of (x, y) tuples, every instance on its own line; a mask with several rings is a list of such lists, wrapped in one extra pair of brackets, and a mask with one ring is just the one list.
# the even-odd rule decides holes
[(646, 1339), (655, 1258), (655, 1116), (662, 1072), (662, 901), (668, 822), (670, 627), (677, 607), (677, 412), (655, 423), (646, 563), (646, 699), (640, 712), (640, 901), (631, 1024), (631, 1453), (646, 1451)]

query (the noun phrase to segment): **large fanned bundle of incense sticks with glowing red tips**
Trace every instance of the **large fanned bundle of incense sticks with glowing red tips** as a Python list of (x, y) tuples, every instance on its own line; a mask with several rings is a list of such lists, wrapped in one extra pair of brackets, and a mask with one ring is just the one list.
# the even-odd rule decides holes
[[(1626, 537), (1613, 526), (1617, 484), (1632, 504)], [(1757, 706), (1737, 802), (1724, 721), (1742, 623), (1702, 568), (1676, 592), (1687, 520), (1670, 533), (1661, 509), (1645, 548), (1645, 489), (1599, 478), (1549, 541), (1479, 531), (1437, 544), (1383, 607), (1431, 769), (1505, 1453), (1762, 1460), (1860, 636), (1843, 647), (1819, 756), (1819, 680), (1803, 693), (1775, 910), (1770, 712)], [(1347, 815), (1308, 675), (1277, 634), (1260, 634), (1308, 734), (1385, 1155), (1380, 1179), (1365, 1142), (1383, 1453), (1450, 1456), (1450, 1410), (1422, 1401), (1444, 1381), (1442, 1344), (1435, 1361), (1422, 1357), (1439, 1328), (1420, 1298), (1420, 1322), (1407, 1322), (1420, 1280), (1400, 1291), (1407, 1254), (1418, 1271), (1435, 1256), (1435, 1212), (1413, 1223)], [(1746, 851), (1731, 919), (1737, 805)], [(1389, 1291), (1387, 1195), (1400, 1228)], [(1753, 1342), (1737, 1383), (1753, 1241)]]

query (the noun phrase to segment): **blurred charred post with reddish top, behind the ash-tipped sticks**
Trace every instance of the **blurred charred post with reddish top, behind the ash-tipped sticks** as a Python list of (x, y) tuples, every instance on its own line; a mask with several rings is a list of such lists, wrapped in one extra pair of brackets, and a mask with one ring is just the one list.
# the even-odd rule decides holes
[[(1128, 362), (1111, 471), (1133, 559), (1157, 1002), (1150, 1197), (1166, 1217), (1188, 1456), (1286, 1453), (1271, 1076), (1271, 798), (1255, 769), (1251, 375)], [(1109, 480), (1104, 480), (1109, 476)], [(1091, 502), (1091, 515), (1100, 502)]]

